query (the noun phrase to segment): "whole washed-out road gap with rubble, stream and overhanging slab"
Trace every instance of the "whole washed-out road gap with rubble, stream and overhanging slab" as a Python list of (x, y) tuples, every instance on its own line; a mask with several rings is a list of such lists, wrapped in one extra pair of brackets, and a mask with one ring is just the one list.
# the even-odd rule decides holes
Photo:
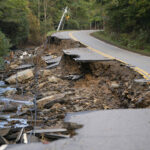
[(7, 58), (0, 75), (0, 145), (72, 137), (82, 125), (64, 122), (69, 112), (150, 107), (149, 81), (129, 66), (70, 39), (48, 41)]

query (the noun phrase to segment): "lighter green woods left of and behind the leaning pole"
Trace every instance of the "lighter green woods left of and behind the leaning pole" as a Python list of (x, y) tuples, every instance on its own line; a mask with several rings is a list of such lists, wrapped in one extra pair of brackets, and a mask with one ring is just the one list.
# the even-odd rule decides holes
[[(64, 8), (67, 17), (61, 30), (89, 29), (97, 19), (96, 0), (1, 0), (0, 62), (10, 49), (40, 45), (56, 32)], [(98, 27), (98, 25), (97, 25)]]

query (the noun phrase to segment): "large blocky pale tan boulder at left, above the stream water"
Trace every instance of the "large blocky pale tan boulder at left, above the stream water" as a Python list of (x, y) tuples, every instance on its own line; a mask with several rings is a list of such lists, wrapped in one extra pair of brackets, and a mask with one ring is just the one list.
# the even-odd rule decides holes
[(15, 84), (16, 82), (23, 82), (25, 80), (33, 78), (33, 70), (32, 69), (27, 69), (24, 71), (20, 71), (15, 75), (10, 76), (7, 78), (5, 81), (9, 84)]

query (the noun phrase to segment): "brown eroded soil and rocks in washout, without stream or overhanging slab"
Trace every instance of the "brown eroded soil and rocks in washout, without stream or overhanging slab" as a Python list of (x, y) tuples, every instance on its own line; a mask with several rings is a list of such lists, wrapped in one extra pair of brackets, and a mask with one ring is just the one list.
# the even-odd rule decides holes
[[(63, 121), (67, 112), (150, 107), (149, 84), (138, 82), (142, 76), (125, 64), (118, 61), (79, 63), (63, 54), (64, 49), (81, 46), (78, 42), (53, 38), (46, 48), (41, 46), (28, 51), (28, 55), (31, 54), (30, 57), (25, 55), (22, 58), (23, 51), (16, 51), (14, 58), (10, 60), (10, 64), (7, 64), (1, 74), (2, 79), (9, 83), (7, 86), (16, 88), (16, 91), (6, 90), (7, 92), (1, 93), (1, 98), (23, 102), (29, 100), (34, 102), (36, 98), (36, 126), (39, 129), (69, 129), (70, 125), (66, 125)], [(55, 68), (46, 69), (47, 66), (53, 65), (54, 62), (51, 60), (61, 55), (62, 59)], [(29, 66), (17, 69), (26, 64)], [(23, 75), (22, 71), (24, 71)], [(14, 101), (9, 102), (9, 105), (1, 101), (0, 107), (3, 115), (10, 114), (8, 109), (10, 106), (16, 106), (17, 109), (12, 110), (19, 112), (12, 117), (27, 120), (28, 125), (24, 133), (30, 131), (34, 126), (34, 105), (22, 104), (20, 107), (20, 103)], [(18, 122), (7, 119), (5, 121), (8, 124), (6, 123), (3, 128), (8, 128), (8, 126), (14, 128), (14, 124)], [(3, 138), (8, 143), (15, 143), (19, 133), (20, 130), (17, 130), (11, 138), (8, 132)], [(74, 133), (68, 130), (64, 135), (68, 134)], [(47, 137), (45, 134), (37, 134), (37, 137), (40, 141), (53, 140), (52, 136)]]

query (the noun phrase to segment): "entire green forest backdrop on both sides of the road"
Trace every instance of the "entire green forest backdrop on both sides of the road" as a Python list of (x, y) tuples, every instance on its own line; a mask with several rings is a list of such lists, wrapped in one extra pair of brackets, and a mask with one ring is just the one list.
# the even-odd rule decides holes
[(0, 56), (43, 43), (56, 31), (66, 6), (61, 30), (104, 28), (96, 37), (150, 54), (149, 0), (1, 0)]

